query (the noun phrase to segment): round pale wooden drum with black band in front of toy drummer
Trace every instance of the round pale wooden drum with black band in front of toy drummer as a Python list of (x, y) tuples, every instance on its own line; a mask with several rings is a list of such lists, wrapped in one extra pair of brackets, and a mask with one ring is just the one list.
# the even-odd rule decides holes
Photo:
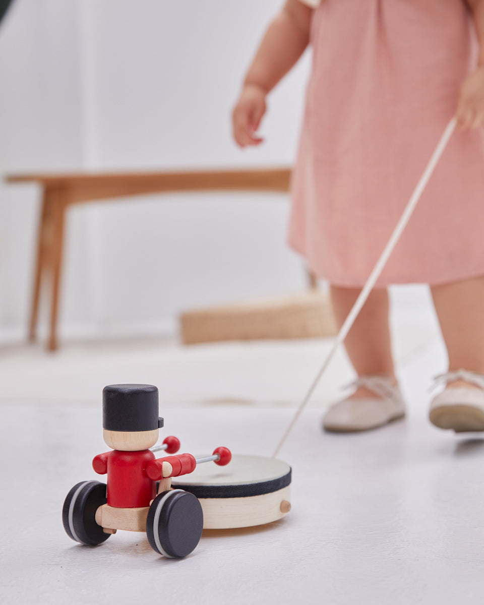
[(226, 467), (197, 466), (173, 487), (196, 495), (203, 529), (233, 529), (271, 523), (290, 511), (290, 466), (262, 456), (232, 456)]

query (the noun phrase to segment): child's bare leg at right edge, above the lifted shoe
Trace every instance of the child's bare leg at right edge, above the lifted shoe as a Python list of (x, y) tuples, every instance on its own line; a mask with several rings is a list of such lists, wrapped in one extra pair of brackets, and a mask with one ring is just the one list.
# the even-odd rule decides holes
[(431, 292), (447, 347), (449, 370), (484, 373), (484, 277), (433, 286)]

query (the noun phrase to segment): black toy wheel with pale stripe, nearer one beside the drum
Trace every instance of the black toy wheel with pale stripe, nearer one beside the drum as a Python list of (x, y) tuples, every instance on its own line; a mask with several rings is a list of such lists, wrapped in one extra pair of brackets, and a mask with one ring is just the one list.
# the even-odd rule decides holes
[(186, 557), (197, 547), (203, 529), (203, 512), (197, 498), (172, 489), (153, 500), (146, 518), (151, 548), (165, 557)]

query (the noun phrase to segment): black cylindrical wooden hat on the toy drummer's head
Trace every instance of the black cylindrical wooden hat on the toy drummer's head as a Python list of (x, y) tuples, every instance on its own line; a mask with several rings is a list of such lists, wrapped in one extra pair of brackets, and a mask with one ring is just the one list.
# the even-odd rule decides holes
[(158, 389), (152, 384), (109, 384), (102, 390), (102, 427), (108, 431), (162, 428), (158, 413)]

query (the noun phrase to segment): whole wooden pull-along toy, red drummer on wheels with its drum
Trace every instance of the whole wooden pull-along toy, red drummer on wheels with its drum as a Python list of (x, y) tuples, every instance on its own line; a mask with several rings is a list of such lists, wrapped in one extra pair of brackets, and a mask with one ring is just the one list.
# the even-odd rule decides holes
[[(257, 456), (232, 459), (224, 447), (198, 458), (177, 454), (180, 441), (173, 436), (155, 446), (163, 427), (158, 413), (158, 389), (152, 385), (103, 389), (103, 439), (113, 449), (94, 457), (93, 469), (107, 474), (107, 485), (82, 481), (67, 494), (62, 522), (70, 538), (94, 546), (117, 529), (146, 532), (154, 551), (185, 557), (203, 528), (261, 525), (289, 512), (286, 463)], [(156, 459), (157, 451), (171, 455)], [(206, 462), (215, 462), (217, 471), (211, 473)]]

